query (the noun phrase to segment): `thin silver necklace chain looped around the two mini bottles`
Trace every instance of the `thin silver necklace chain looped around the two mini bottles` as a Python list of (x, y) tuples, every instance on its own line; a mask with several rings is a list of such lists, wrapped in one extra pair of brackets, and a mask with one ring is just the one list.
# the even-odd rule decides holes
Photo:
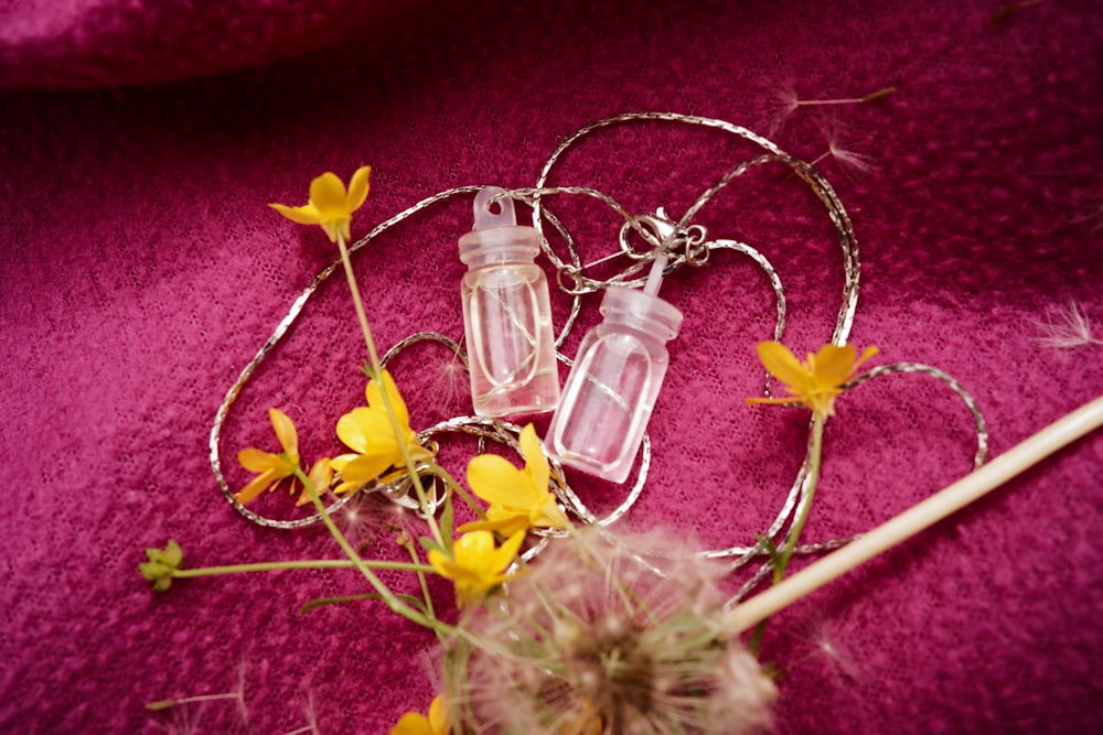
[[(702, 194), (694, 201), (689, 208), (677, 219), (668, 216), (663, 208), (656, 208), (654, 214), (632, 214), (628, 212), (623, 206), (621, 206), (617, 199), (609, 196), (608, 194), (597, 191), (595, 188), (586, 186), (569, 186), (569, 185), (558, 185), (549, 186), (548, 179), (555, 169), (556, 164), (559, 163), (563, 154), (568, 151), (572, 145), (577, 144), (580, 140), (596, 133), (602, 129), (609, 128), (611, 126), (620, 125), (635, 125), (643, 122), (662, 122), (662, 123), (677, 123), (687, 125), (697, 128), (710, 128), (721, 130), (726, 133), (740, 138), (758, 148), (763, 152), (759, 155), (752, 156), (748, 160), (739, 162), (737, 165), (731, 167), (727, 173), (725, 173), (719, 180), (717, 180), (708, 188), (704, 190)], [(581, 309), (581, 298), (586, 294), (590, 294), (602, 289), (608, 289), (612, 285), (619, 287), (636, 287), (643, 283), (644, 277), (640, 273), (647, 268), (654, 258), (662, 252), (667, 256), (667, 264), (665, 267), (665, 273), (672, 273), (685, 266), (699, 268), (705, 266), (710, 260), (710, 255), (716, 250), (730, 250), (732, 252), (738, 252), (750, 258), (767, 275), (769, 280), (770, 288), (774, 293), (777, 320), (774, 323), (773, 338), (775, 341), (781, 341), (785, 328), (785, 294), (782, 288), (781, 278), (774, 270), (770, 261), (754, 247), (731, 239), (709, 239), (708, 233), (700, 225), (694, 224), (693, 219), (697, 214), (711, 201), (717, 194), (728, 187), (732, 182), (738, 180), (748, 171), (756, 169), (758, 166), (765, 166), (771, 164), (781, 164), (788, 166), (801, 181), (803, 181), (821, 201), (827, 210), (827, 216), (831, 219), (835, 231), (838, 236), (838, 241), (843, 251), (843, 270), (844, 270), (844, 284), (840, 299), (840, 305), (838, 313), (835, 318), (835, 327), (832, 333), (832, 343), (836, 345), (846, 344), (847, 337), (849, 336), (850, 329), (854, 324), (854, 316), (857, 310), (858, 303), (858, 281), (860, 278), (860, 267), (858, 261), (858, 242), (854, 235), (854, 227), (850, 221), (846, 209), (839, 202), (834, 188), (811, 164), (795, 159), (780, 148), (778, 148), (773, 142), (767, 140), (765, 138), (730, 122), (724, 120), (717, 120), (711, 118), (703, 118), (688, 115), (678, 115), (673, 112), (631, 112), (625, 115), (619, 115), (614, 117), (604, 118), (592, 122), (583, 128), (580, 128), (575, 133), (565, 139), (558, 148), (552, 153), (550, 158), (545, 162), (539, 176), (537, 177), (536, 185), (529, 188), (515, 188), (507, 191), (503, 196), (508, 196), (515, 201), (527, 204), (532, 207), (533, 212), (533, 227), (536, 229), (538, 235), (538, 240), (544, 255), (548, 258), (552, 264), (556, 269), (557, 282), (559, 289), (572, 298), (570, 311), (567, 318), (564, 322), (563, 329), (556, 338), (556, 346), (563, 345), (564, 341), (570, 334), (574, 328), (575, 322)], [(350, 248), (350, 253), (355, 253), (367, 244), (374, 240), (376, 237), (394, 227), (395, 225), (404, 221), (405, 219), (419, 215), (426, 209), (432, 207), (433, 205), (450, 199), (457, 196), (472, 195), (480, 190), (482, 186), (460, 186), (456, 188), (446, 190), (429, 196), (417, 204), (408, 207), (394, 215), (389, 219), (386, 219), (378, 225), (376, 225), (372, 231), (366, 236), (357, 240)], [(545, 203), (546, 197), (552, 197), (556, 195), (574, 195), (574, 196), (587, 196), (595, 198), (599, 202), (606, 204), (612, 212), (618, 215), (623, 224), (621, 225), (619, 237), (618, 237), (618, 249), (610, 255), (599, 258), (598, 260), (583, 263), (579, 257), (578, 244), (574, 238), (571, 231), (563, 224), (561, 219), (550, 212)], [(566, 258), (561, 258), (558, 252), (552, 247), (548, 238), (545, 235), (545, 228), (550, 227), (554, 229), (559, 239), (563, 241), (563, 247), (566, 248)], [(647, 246), (646, 250), (636, 250), (632, 245), (630, 238), (632, 235), (638, 236)], [(606, 263), (615, 259), (622, 259), (625, 261), (624, 267), (613, 275), (606, 279), (595, 279), (587, 275), (587, 271), (598, 264)], [(276, 346), (281, 342), (283, 336), (287, 334), (290, 326), (298, 320), (302, 310), (310, 298), (314, 294), (318, 288), (321, 285), (325, 279), (328, 279), (333, 271), (341, 264), (340, 259), (334, 260), (332, 263), (326, 266), (314, 280), (307, 287), (307, 289), (292, 302), (290, 310), (287, 315), (280, 320), (277, 324), (276, 329), (272, 332), (271, 336), (265, 342), (257, 354), (253, 357), (248, 365), (242, 370), (237, 380), (226, 392), (226, 396), (218, 407), (215, 413), (214, 425), (211, 430), (210, 437), (210, 458), (211, 467), (214, 473), (215, 479), (222, 489), (223, 495), (229, 501), (229, 504), (242, 514), (244, 517), (250, 521), (258, 523), (260, 526), (266, 526), (270, 528), (301, 528), (303, 526), (309, 526), (318, 522), (321, 519), (320, 515), (313, 515), (310, 517), (295, 519), (295, 520), (277, 520), (271, 518), (266, 518), (248, 508), (244, 507), (242, 504), (237, 502), (234, 498), (233, 491), (229, 489), (228, 485), (222, 473), (222, 462), (221, 462), (221, 439), (222, 431), (229, 412), (231, 406), (234, 403), (242, 389), (245, 387), (246, 382), (251, 378), (254, 371), (257, 367), (268, 357), (268, 355), (276, 348)], [(389, 350), (387, 350), (384, 356), (384, 363), (393, 359), (399, 353), (401, 353), (406, 347), (411, 344), (421, 341), (432, 341), (445, 345), (448, 349), (452, 350), (457, 357), (467, 366), (467, 356), (462, 347), (450, 339), (449, 337), (431, 332), (419, 332), (409, 337), (406, 337)], [(570, 365), (570, 359), (563, 354), (558, 354), (560, 361), (566, 365)], [(953, 378), (942, 372), (941, 370), (912, 363), (900, 363), (896, 365), (881, 366), (874, 368), (861, 378), (856, 379), (847, 388), (856, 387), (874, 378), (879, 378), (886, 375), (895, 372), (919, 372), (933, 377), (956, 392), (962, 400), (965, 402), (966, 408), (971, 412), (977, 439), (977, 452), (974, 457), (974, 465), (979, 466), (987, 453), (987, 430), (983, 417), (981, 415), (979, 409), (973, 398), (965, 391), (965, 389), (957, 383)], [(771, 393), (770, 387), (770, 375), (765, 374), (763, 392), (769, 396)], [(797, 509), (807, 501), (807, 485), (810, 482), (808, 466), (811, 462), (811, 422), (808, 424), (808, 435), (807, 435), (807, 447), (804, 456), (804, 461), (797, 471), (796, 477), (790, 490), (782, 504), (780, 510), (775, 515), (773, 521), (770, 523), (765, 532), (761, 533), (761, 538), (769, 539), (777, 545), (781, 545), (785, 542), (788, 533), (791, 532), (791, 523), (795, 518)], [(497, 421), (492, 419), (480, 419), (471, 417), (458, 417), (450, 419), (448, 421), (441, 422), (436, 426), (424, 430), (418, 433), (419, 441), (424, 443), (432, 443), (436, 441), (436, 436), (440, 434), (450, 433), (462, 433), (467, 435), (478, 436), (480, 440), (480, 447), (486, 440), (502, 443), (512, 447), (514, 451), (520, 452), (520, 445), (517, 443), (517, 435), (520, 433), (520, 428), (505, 421)], [(651, 440), (645, 434), (643, 445), (641, 447), (641, 458), (639, 463), (639, 469), (636, 472), (636, 480), (633, 484), (631, 490), (625, 496), (625, 499), (612, 512), (602, 518), (596, 517), (578, 497), (578, 495), (570, 488), (566, 480), (566, 476), (563, 468), (553, 462), (552, 471), (552, 488), (556, 493), (560, 502), (570, 512), (572, 512), (579, 520), (586, 523), (596, 523), (601, 527), (608, 527), (619, 519), (621, 519), (635, 504), (636, 499), (643, 491), (643, 487), (646, 484), (647, 471), (651, 464)], [(396, 483), (386, 486), (371, 486), (370, 490), (383, 491), (387, 497), (389, 497), (395, 502), (404, 505), (406, 507), (416, 507), (416, 501), (408, 496), (410, 482), (408, 478), (399, 479)], [(340, 509), (352, 496), (345, 496), (329, 506), (329, 511), (335, 511)], [(430, 511), (436, 510), (436, 505), (429, 508)], [(788, 530), (786, 530), (788, 529)], [(543, 536), (555, 536), (554, 531), (542, 532)], [(806, 543), (797, 545), (795, 549), (796, 553), (804, 554), (817, 554), (832, 549), (838, 548), (853, 538), (845, 539), (829, 539), (826, 541), (817, 543)], [(539, 552), (540, 549), (546, 544), (547, 539), (543, 539), (534, 549), (527, 552), (527, 558), (532, 558)], [(647, 550), (638, 549), (635, 550), (641, 555), (650, 556), (663, 556), (665, 555), (662, 550)], [(713, 549), (708, 551), (700, 552), (700, 555), (711, 559), (725, 560), (731, 572), (736, 572), (740, 568), (745, 566), (754, 559), (759, 559), (767, 555), (765, 549), (763, 547), (763, 541), (752, 545), (731, 545), (720, 549)], [(754, 586), (761, 583), (770, 572), (772, 571), (772, 564), (767, 562), (761, 564), (751, 574), (750, 579), (743, 584), (740, 591), (729, 601), (729, 604), (735, 604), (738, 599), (742, 598), (748, 594)]]

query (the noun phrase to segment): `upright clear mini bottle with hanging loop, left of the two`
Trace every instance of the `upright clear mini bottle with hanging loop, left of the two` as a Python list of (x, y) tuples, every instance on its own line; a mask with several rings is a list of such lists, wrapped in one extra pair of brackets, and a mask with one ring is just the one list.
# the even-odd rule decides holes
[(518, 227), (513, 199), (496, 186), (475, 195), (474, 229), (460, 238), (468, 266), (461, 285), (471, 401), (476, 415), (552, 411), (559, 370), (548, 281), (533, 261), (536, 230)]

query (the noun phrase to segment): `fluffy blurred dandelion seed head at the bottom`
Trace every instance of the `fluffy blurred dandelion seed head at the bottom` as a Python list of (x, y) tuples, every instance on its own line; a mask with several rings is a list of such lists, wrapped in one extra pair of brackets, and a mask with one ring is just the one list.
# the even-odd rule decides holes
[[(639, 548), (688, 551), (672, 539)], [(663, 574), (595, 529), (557, 539), (476, 610), (459, 682), (476, 733), (760, 732), (775, 689), (716, 616), (722, 570), (689, 554)], [(565, 580), (570, 582), (565, 583)]]

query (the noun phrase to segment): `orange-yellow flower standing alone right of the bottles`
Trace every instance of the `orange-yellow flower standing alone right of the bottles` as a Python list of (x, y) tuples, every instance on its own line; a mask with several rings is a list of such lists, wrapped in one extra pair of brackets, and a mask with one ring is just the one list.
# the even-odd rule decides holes
[[(821, 417), (835, 415), (835, 397), (854, 377), (858, 366), (876, 355), (877, 347), (866, 347), (857, 358), (854, 347), (827, 344), (803, 363), (778, 342), (759, 343), (759, 359), (765, 369), (785, 383), (789, 397), (748, 398), (748, 403), (802, 403)], [(856, 359), (857, 358), (857, 359)]]

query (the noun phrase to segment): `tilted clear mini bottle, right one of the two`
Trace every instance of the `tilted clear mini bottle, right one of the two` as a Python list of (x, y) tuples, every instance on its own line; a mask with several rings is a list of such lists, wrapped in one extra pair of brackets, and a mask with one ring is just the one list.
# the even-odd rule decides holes
[(606, 291), (601, 314), (604, 321), (578, 348), (544, 446), (564, 464), (623, 483), (666, 376), (666, 343), (677, 336), (682, 312), (645, 291), (614, 287)]

